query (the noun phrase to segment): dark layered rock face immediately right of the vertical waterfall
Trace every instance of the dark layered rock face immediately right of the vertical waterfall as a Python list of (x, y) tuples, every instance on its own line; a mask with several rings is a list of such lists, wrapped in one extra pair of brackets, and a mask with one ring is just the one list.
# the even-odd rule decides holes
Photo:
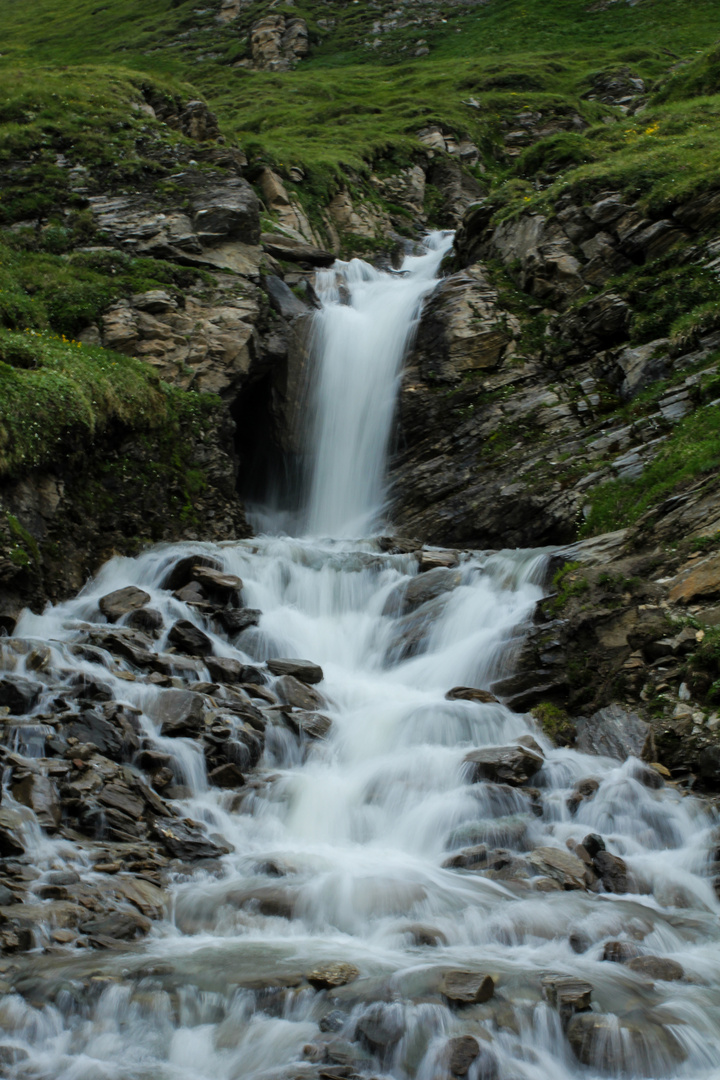
[(719, 211), (710, 192), (660, 220), (612, 193), (498, 225), (484, 202), (466, 212), (463, 269), (429, 301), (400, 392), (393, 481), (405, 532), (567, 543), (590, 488), (642, 473), (678, 421), (710, 401), (720, 338), (708, 327), (633, 347), (633, 306), (610, 282), (680, 243), (714, 272), (704, 233)]

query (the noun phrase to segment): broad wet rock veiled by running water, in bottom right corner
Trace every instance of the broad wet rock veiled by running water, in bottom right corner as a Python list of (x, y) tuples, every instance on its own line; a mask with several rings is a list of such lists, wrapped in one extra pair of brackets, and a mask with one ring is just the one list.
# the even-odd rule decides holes
[(687, 1057), (667, 1027), (634, 1024), (608, 1013), (579, 1013), (570, 1021), (567, 1035), (582, 1065), (614, 1075), (673, 1077)]

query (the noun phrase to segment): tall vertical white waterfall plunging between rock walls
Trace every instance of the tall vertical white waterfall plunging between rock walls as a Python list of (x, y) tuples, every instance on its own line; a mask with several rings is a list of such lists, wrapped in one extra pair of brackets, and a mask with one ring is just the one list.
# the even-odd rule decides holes
[(424, 254), (407, 256), (398, 273), (353, 259), (317, 274), (307, 514), (313, 536), (364, 536), (378, 522), (403, 357), (451, 245), (452, 233), (431, 233)]

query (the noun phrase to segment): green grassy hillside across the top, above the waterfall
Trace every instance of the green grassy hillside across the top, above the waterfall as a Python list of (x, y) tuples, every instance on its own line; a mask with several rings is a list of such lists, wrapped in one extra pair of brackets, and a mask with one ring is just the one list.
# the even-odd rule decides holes
[[(54, 165), (54, 156), (91, 163), (116, 188), (145, 183), (155, 167), (147, 147), (181, 138), (133, 111), (147, 79), (185, 99), (204, 96), (226, 138), (252, 159), (281, 171), (301, 164), (308, 180), (296, 190), (311, 206), (340, 177), (364, 186), (371, 170), (409, 162), (418, 130), (430, 122), (477, 143), (500, 215), (552, 210), (568, 186), (581, 199), (622, 189), (661, 212), (720, 175), (720, 54), (707, 51), (720, 37), (716, 0), (607, 9), (589, 0), (490, 0), (471, 11), (438, 2), (440, 17), (432, 25), (379, 38), (372, 24), (393, 4), (297, 0), (274, 11), (308, 19), (312, 56), (288, 73), (233, 66), (245, 55), (247, 27), (267, 13), (264, 3), (225, 27), (215, 21), (216, 6), (199, 9), (196, 0), (114, 0), (101, 8), (97, 0), (5, 0), (0, 8), (0, 218), (10, 224), (40, 214), (52, 222), (53, 207), (64, 201), (71, 211), (39, 244), (21, 237), (0, 249), (5, 325), (74, 333), (106, 302), (106, 268), (65, 254), (80, 242), (86, 221), (82, 200), (73, 216), (72, 193), (64, 189), (67, 170)], [(331, 28), (322, 23), (328, 18), (335, 19)], [(429, 56), (413, 55), (419, 41), (427, 43)], [(633, 118), (584, 97), (595, 75), (621, 67), (653, 90), (648, 108)], [(479, 108), (464, 104), (470, 97)], [(500, 152), (503, 120), (522, 109), (547, 116), (568, 108), (588, 123), (582, 135), (553, 136), (515, 161)], [(540, 191), (531, 183), (538, 173), (548, 180)], [(139, 287), (138, 280), (145, 287), (177, 284), (172, 268), (136, 265), (142, 261), (123, 266), (113, 295)], [(664, 275), (662, 291), (652, 287), (657, 274)], [(714, 283), (690, 276), (680, 282), (668, 265), (641, 268), (624, 283), (641, 309), (636, 340), (687, 323), (693, 305), (711, 306)], [(60, 338), (53, 348), (66, 347)], [(1, 377), (12, 384), (2, 369)], [(12, 373), (13, 379), (29, 377)], [(717, 463), (715, 429), (702, 428), (696, 447), (692, 423), (678, 432), (681, 457), (701, 470)], [(674, 460), (667, 469), (680, 477)], [(642, 483), (642, 492), (633, 485), (614, 495), (599, 491), (593, 530), (626, 519), (636, 496), (654, 498), (653, 477)], [(662, 484), (665, 491), (666, 480)]]

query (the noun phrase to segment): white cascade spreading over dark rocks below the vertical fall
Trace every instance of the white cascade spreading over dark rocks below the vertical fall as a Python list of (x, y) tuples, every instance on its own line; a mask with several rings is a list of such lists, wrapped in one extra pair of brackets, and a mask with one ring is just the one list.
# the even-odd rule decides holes
[[(389, 291), (405, 284), (385, 283)], [(405, 338), (413, 305), (403, 309)], [(339, 529), (379, 510), (378, 461), (372, 485), (354, 501), (341, 501), (335, 481), (316, 480), (323, 499), (327, 495), (313, 503), (317, 531), (330, 528), (320, 516), (323, 505), (328, 518), (337, 513)], [(168, 566), (189, 551), (213, 554), (243, 578), (244, 602), (263, 612), (257, 630), (234, 642), (217, 636), (160, 589)], [(559, 972), (587, 978), (594, 1010), (617, 1017), (607, 1036), (616, 1065), (611, 1072), (717, 1080), (720, 904), (707, 874), (716, 820), (671, 787), (643, 786), (639, 762), (556, 750), (529, 718), (500, 704), (445, 698), (457, 685), (491, 688), (512, 671), (516, 635), (542, 594), (544, 559), (533, 552), (464, 556), (457, 588), (419, 617), (419, 653), (404, 660), (398, 642), (408, 626), (383, 610), (394, 590), (415, 580), (417, 562), (383, 555), (373, 541), (263, 537), (155, 549), (113, 559), (76, 600), (26, 616), (17, 636), (53, 649), (47, 667), (28, 677), (47, 683), (80, 670), (110, 683), (117, 700), (142, 711), (148, 739), (173, 755), (176, 774), (191, 789), (181, 812), (233, 851), (219, 875), (178, 876), (168, 919), (138, 949), (40, 948), (19, 987), (28, 1000), (8, 994), (0, 1001), (0, 1075), (320, 1080), (321, 1067), (350, 1063), (368, 1078), (439, 1080), (448, 1037), (464, 1034), (497, 1062), (494, 1071), (476, 1062), (468, 1080), (604, 1075), (599, 1059), (597, 1068), (578, 1063), (557, 1014), (542, 1000), (542, 976)], [(259, 782), (240, 806), (234, 793), (208, 787), (196, 745), (158, 734), (155, 687), (113, 675), (123, 662), (108, 657), (105, 666), (71, 651), (84, 621), (104, 622), (98, 598), (126, 584), (151, 594), (165, 630), (178, 618), (203, 626), (218, 656), (244, 662), (305, 657), (322, 664), (328, 738), (300, 739), (279, 712), (264, 708)], [(533, 780), (534, 809), (522, 788), (467, 783), (468, 748), (505, 745), (527, 733), (546, 757)], [(572, 816), (567, 798), (587, 777), (599, 781), (599, 791)], [(39, 868), (74, 866), (101, 888), (79, 845), (29, 829)], [(626, 860), (636, 881), (631, 893), (546, 893), (530, 869), (503, 881), (443, 867), (451, 851), (479, 838), (522, 859), (541, 845), (567, 850), (568, 840), (588, 832), (601, 833), (608, 849)], [(277, 914), (267, 907), (262, 914), (263, 896), (280, 905)], [(437, 936), (435, 946), (416, 943), (419, 924)], [(586, 935), (581, 955), (570, 946), (571, 933)], [(603, 944), (617, 939), (678, 960), (685, 978), (650, 984), (603, 961)], [(326, 961), (353, 963), (359, 977), (332, 995), (314, 991), (302, 976)], [(448, 1008), (438, 982), (452, 969), (490, 973), (494, 998), (461, 1012)], [(363, 1042), (368, 1021), (385, 1032), (383, 1050)], [(663, 1028), (677, 1040), (682, 1062), (668, 1057)], [(14, 1064), (9, 1051), (2, 1056), (2, 1044), (16, 1048)]]

